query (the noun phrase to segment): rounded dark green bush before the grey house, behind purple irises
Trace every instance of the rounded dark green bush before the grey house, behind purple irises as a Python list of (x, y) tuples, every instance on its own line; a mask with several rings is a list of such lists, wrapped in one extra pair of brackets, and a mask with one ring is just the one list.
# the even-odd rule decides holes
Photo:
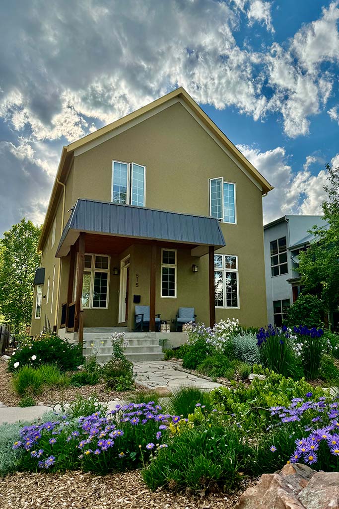
[(288, 309), (286, 323), (291, 327), (296, 323), (306, 327), (319, 327), (323, 319), (323, 302), (315, 295), (301, 294)]

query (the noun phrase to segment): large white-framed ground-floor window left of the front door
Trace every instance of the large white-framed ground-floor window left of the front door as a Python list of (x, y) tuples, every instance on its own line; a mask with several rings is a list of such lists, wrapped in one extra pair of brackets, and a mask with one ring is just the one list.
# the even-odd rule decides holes
[(109, 256), (85, 254), (81, 297), (84, 308), (108, 308), (109, 268)]

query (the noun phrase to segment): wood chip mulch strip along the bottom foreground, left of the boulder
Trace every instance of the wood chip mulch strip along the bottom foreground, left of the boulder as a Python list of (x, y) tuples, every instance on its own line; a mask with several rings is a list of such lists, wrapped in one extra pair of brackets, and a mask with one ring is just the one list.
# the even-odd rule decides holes
[[(253, 485), (244, 482), (242, 491)], [(0, 507), (13, 509), (231, 509), (241, 492), (192, 497), (159, 489), (150, 492), (138, 470), (99, 476), (80, 471), (57, 473), (17, 472), (0, 478)]]

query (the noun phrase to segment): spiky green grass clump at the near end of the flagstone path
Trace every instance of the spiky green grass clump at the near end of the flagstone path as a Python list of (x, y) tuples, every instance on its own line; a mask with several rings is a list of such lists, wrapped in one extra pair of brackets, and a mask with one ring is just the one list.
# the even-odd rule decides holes
[(205, 405), (205, 411), (212, 409), (212, 401), (208, 391), (198, 387), (179, 387), (173, 392), (168, 407), (172, 415), (188, 417), (190, 413), (194, 412), (197, 404)]

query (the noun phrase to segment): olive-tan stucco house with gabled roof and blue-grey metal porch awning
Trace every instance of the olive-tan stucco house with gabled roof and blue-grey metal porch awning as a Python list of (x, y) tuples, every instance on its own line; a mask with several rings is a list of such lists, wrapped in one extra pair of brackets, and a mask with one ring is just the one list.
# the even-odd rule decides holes
[(266, 324), (271, 188), (182, 88), (64, 147), (31, 333), (133, 330), (136, 304), (150, 305), (150, 330), (180, 306), (206, 324)]

